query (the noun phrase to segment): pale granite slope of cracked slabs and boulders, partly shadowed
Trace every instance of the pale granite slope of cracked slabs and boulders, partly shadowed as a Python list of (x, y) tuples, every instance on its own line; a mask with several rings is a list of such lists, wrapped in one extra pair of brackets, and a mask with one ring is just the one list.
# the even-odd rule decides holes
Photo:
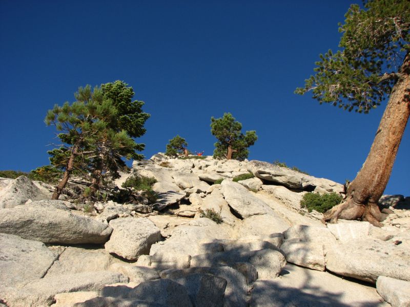
[[(381, 200), (382, 228), (324, 225), (300, 200), (343, 194), (341, 184), (256, 160), (190, 158), (133, 163), (131, 175), (156, 179), (156, 202), (50, 201), (50, 187), (2, 179), (0, 305), (408, 304), (407, 198)], [(233, 181), (249, 171), (255, 178)]]

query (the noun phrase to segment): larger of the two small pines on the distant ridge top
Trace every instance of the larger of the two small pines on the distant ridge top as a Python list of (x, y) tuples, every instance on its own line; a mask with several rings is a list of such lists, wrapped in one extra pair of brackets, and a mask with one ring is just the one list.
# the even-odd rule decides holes
[(240, 161), (248, 158), (248, 147), (255, 144), (258, 137), (254, 130), (242, 134), (241, 129), (242, 124), (231, 113), (224, 113), (221, 118), (211, 118), (211, 133), (218, 139), (214, 144), (214, 158)]

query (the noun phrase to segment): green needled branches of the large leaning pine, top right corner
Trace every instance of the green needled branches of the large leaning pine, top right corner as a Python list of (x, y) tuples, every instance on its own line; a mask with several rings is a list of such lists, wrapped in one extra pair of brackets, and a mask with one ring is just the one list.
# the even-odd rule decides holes
[(408, 0), (365, 1), (352, 5), (339, 24), (341, 50), (327, 51), (315, 75), (295, 93), (313, 93), (319, 103), (368, 113), (390, 94), (410, 50)]

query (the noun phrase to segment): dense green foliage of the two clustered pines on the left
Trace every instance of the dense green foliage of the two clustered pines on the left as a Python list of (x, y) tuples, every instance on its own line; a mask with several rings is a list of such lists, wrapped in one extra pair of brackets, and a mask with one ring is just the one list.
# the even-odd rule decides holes
[[(94, 194), (104, 178), (118, 178), (127, 170), (125, 159), (140, 160), (136, 151), (145, 145), (133, 138), (145, 133), (144, 123), (149, 114), (142, 112), (142, 101), (132, 101), (134, 92), (122, 81), (106, 83), (91, 89), (79, 87), (75, 102), (55, 105), (46, 116), (47, 125), (54, 125), (63, 143), (50, 150), (50, 162), (70, 174), (92, 174)], [(65, 183), (61, 183), (65, 185)], [(59, 192), (63, 188), (58, 188)], [(56, 190), (57, 191), (57, 190)], [(54, 195), (53, 195), (54, 197)]]

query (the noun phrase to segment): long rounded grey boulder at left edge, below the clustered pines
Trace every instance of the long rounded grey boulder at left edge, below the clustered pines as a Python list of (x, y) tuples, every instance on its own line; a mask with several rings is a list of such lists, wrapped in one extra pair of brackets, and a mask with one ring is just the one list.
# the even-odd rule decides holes
[(43, 243), (101, 244), (112, 229), (65, 210), (18, 206), (0, 210), (0, 231)]

